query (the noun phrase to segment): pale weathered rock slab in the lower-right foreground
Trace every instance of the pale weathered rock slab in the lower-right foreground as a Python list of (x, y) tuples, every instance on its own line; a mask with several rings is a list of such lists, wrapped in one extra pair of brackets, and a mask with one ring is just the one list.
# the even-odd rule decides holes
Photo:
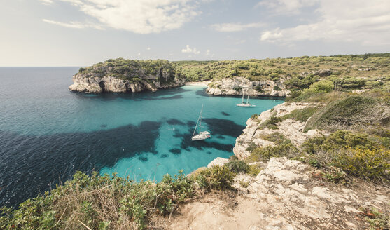
[(266, 222), (255, 229), (365, 229), (366, 223), (356, 218), (360, 207), (389, 208), (383, 199), (389, 196), (385, 187), (365, 183), (346, 188), (323, 183), (316, 173), (300, 161), (271, 158), (256, 178), (242, 175), (249, 186), (235, 187), (253, 199), (258, 216)]

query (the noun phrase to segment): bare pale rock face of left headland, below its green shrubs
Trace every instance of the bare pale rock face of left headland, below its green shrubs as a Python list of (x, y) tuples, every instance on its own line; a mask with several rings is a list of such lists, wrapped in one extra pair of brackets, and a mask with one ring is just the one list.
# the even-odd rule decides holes
[(155, 92), (158, 88), (183, 86), (184, 81), (184, 79), (174, 79), (169, 83), (161, 83), (159, 78), (132, 81), (113, 76), (98, 77), (90, 74), (76, 74), (73, 76), (74, 84), (69, 86), (69, 90), (82, 93), (137, 93), (144, 90)]

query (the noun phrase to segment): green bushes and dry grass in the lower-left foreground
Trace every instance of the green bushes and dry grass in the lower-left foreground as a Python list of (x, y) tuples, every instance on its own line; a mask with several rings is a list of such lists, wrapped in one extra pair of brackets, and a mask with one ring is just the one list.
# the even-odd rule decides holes
[(29, 199), (18, 209), (1, 208), (0, 229), (144, 229), (150, 217), (169, 215), (196, 189), (228, 189), (233, 177), (225, 166), (192, 177), (165, 175), (158, 183), (76, 172), (50, 194)]

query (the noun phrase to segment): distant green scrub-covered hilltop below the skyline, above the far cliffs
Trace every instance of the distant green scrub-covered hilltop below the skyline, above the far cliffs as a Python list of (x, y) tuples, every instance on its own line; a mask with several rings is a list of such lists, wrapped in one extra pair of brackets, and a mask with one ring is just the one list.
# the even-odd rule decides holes
[(137, 80), (147, 76), (209, 81), (244, 77), (251, 81), (280, 81), (293, 93), (322, 79), (342, 90), (390, 88), (390, 53), (364, 55), (303, 56), (263, 60), (176, 61), (110, 59), (78, 73)]

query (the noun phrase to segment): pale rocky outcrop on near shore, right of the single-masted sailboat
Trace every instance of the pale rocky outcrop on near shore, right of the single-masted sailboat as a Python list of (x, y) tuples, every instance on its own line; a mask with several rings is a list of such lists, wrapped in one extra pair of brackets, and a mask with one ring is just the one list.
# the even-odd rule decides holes
[(262, 135), (268, 135), (271, 133), (280, 133), (284, 137), (291, 140), (295, 145), (300, 145), (305, 140), (315, 135), (326, 135), (326, 133), (320, 132), (319, 130), (309, 130), (307, 133), (303, 133), (303, 128), (305, 128), (306, 122), (295, 121), (293, 119), (286, 119), (278, 123), (278, 129), (273, 130), (269, 128), (259, 129), (260, 123), (263, 123), (269, 119), (272, 115), (275, 116), (284, 116), (291, 113), (295, 109), (303, 109), (305, 107), (312, 106), (308, 103), (283, 103), (278, 104), (273, 109), (264, 111), (256, 118), (248, 119), (246, 121), (246, 128), (243, 130), (242, 135), (239, 135), (236, 139), (235, 147), (233, 152), (237, 158), (242, 159), (249, 156), (251, 153), (246, 151), (246, 148), (249, 147), (249, 144), (256, 144), (256, 147), (265, 147), (267, 145), (273, 145), (273, 142), (261, 139)]

